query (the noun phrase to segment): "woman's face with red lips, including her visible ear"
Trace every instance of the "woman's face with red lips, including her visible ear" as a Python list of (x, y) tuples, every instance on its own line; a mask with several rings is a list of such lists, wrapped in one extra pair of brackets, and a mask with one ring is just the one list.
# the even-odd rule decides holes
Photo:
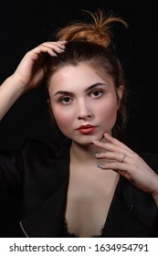
[[(53, 74), (48, 92), (58, 127), (78, 144), (91, 144), (111, 133), (119, 102), (111, 77), (86, 64)], [(118, 89), (121, 98), (122, 87)]]

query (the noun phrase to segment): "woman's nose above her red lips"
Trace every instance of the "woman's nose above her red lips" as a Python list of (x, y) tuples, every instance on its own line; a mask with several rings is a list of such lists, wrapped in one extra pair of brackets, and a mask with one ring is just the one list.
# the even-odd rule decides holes
[(90, 119), (93, 116), (90, 104), (86, 100), (80, 100), (78, 104), (78, 119)]

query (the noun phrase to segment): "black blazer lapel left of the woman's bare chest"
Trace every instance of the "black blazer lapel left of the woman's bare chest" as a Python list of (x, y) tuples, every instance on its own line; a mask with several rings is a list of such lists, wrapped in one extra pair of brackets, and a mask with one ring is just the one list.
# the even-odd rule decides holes
[(21, 220), (21, 227), (27, 237), (60, 237), (65, 215), (67, 185), (68, 179), (65, 179), (55, 194)]

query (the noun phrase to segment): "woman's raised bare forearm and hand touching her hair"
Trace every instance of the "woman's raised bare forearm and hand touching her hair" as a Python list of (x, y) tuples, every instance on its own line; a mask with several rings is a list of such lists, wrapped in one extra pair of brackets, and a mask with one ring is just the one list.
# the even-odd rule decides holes
[(26, 53), (13, 75), (0, 86), (0, 120), (22, 94), (41, 84), (45, 76), (47, 54), (57, 57), (63, 52), (65, 44), (66, 41), (45, 42)]

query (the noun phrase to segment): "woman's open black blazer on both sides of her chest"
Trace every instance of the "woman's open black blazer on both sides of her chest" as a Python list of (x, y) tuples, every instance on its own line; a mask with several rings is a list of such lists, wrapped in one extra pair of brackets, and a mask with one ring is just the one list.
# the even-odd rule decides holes
[[(158, 155), (142, 158), (158, 172)], [(20, 198), (20, 225), (27, 237), (64, 237), (69, 144), (27, 140), (21, 152), (0, 154), (0, 193)], [(153, 197), (120, 177), (101, 237), (158, 237)]]

